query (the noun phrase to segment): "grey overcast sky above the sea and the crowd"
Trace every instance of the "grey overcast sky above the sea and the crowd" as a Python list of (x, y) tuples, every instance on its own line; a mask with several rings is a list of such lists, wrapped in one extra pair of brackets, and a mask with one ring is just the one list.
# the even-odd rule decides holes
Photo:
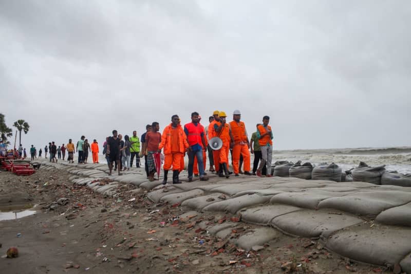
[(409, 146), (410, 25), (400, 0), (0, 1), (0, 113), (38, 149), (216, 109), (276, 149)]

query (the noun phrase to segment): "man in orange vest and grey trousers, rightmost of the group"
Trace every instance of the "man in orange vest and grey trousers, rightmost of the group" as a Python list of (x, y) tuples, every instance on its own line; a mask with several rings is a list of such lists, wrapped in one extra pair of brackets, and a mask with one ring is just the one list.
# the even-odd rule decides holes
[(271, 158), (273, 156), (273, 133), (271, 131), (271, 126), (268, 125), (270, 122), (270, 117), (263, 117), (263, 124), (257, 126), (257, 139), (261, 148), (261, 159), (260, 165), (257, 169), (257, 176), (261, 176), (261, 170), (267, 164), (267, 177), (271, 177)]

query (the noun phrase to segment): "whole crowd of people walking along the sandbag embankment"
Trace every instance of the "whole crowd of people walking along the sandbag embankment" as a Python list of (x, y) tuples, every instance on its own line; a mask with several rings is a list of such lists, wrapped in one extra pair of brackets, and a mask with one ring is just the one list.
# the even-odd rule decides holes
[[(191, 114), (191, 122), (181, 125), (178, 115), (171, 117), (171, 123), (166, 125), (162, 134), (158, 122), (146, 125), (146, 132), (141, 135), (141, 142), (137, 136), (137, 131), (132, 136), (118, 134), (116, 130), (112, 136), (106, 138), (103, 144), (103, 155), (107, 160), (109, 175), (113, 168), (122, 175), (121, 171), (129, 170), (133, 167), (136, 159), (136, 167), (140, 168), (140, 158), (144, 157), (144, 168), (147, 178), (155, 180), (157, 172), (154, 155), (163, 152), (164, 164), (163, 184), (167, 183), (168, 173), (173, 172), (173, 184), (180, 184), (179, 174), (184, 169), (184, 156), (188, 155), (188, 179), (193, 180), (193, 176), (199, 176), (200, 180), (208, 180), (206, 173), (207, 155), (209, 158), (209, 172), (216, 172), (220, 177), (229, 178), (239, 174), (267, 176), (271, 175), (272, 139), (273, 133), (269, 125), (270, 117), (264, 116), (262, 123), (256, 124), (256, 130), (248, 138), (246, 125), (241, 121), (241, 113), (238, 110), (233, 112), (233, 120), (227, 122), (225, 112), (215, 111), (209, 117), (209, 124), (201, 124), (201, 116), (197, 112)], [(216, 139), (215, 137), (218, 137)], [(213, 139), (214, 138), (214, 139)], [(220, 145), (214, 147), (210, 140), (219, 140)], [(141, 149), (140, 149), (141, 148)], [(26, 157), (26, 149), (22, 145), (17, 150), (20, 157)], [(90, 144), (85, 136), (81, 136), (76, 145), (72, 139), (67, 144), (57, 146), (54, 141), (49, 142), (44, 147), (44, 156), (49, 161), (57, 162), (65, 160), (74, 162), (74, 154), (78, 153), (77, 162), (85, 164), (88, 160), (89, 152), (92, 155), (92, 162), (99, 163), (99, 144), (96, 139)], [(229, 169), (229, 153), (231, 153), (232, 171)], [(254, 154), (254, 161), (251, 169), (251, 155)], [(31, 159), (37, 157), (36, 148), (31, 145)], [(42, 157), (42, 149), (39, 150), (39, 157)], [(244, 171), (241, 170), (244, 168)], [(157, 174), (158, 175), (158, 174)]]

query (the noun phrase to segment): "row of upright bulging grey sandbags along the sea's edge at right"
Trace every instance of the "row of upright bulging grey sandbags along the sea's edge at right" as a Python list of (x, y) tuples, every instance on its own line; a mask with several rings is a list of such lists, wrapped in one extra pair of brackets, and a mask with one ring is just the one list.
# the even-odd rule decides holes
[(301, 161), (296, 163), (289, 161), (277, 161), (274, 163), (274, 176), (296, 177), (301, 179), (331, 180), (331, 181), (364, 181), (376, 185), (394, 185), (411, 187), (411, 174), (401, 174), (398, 172), (387, 172), (385, 166), (369, 167), (366, 163), (360, 162), (357, 168), (342, 172), (342, 169), (331, 163), (313, 166)]

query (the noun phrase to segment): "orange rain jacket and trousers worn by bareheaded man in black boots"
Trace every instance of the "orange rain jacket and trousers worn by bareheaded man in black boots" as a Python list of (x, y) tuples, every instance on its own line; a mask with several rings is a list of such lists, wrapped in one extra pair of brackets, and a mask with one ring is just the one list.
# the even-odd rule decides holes
[[(189, 143), (185, 138), (185, 133), (181, 125), (173, 128), (172, 124), (165, 127), (161, 135), (161, 142), (158, 149), (164, 148), (164, 170), (170, 170), (173, 166), (173, 171), (180, 172), (181, 158), (183, 158), (185, 150), (189, 147)], [(183, 166), (184, 168), (184, 166)]]

